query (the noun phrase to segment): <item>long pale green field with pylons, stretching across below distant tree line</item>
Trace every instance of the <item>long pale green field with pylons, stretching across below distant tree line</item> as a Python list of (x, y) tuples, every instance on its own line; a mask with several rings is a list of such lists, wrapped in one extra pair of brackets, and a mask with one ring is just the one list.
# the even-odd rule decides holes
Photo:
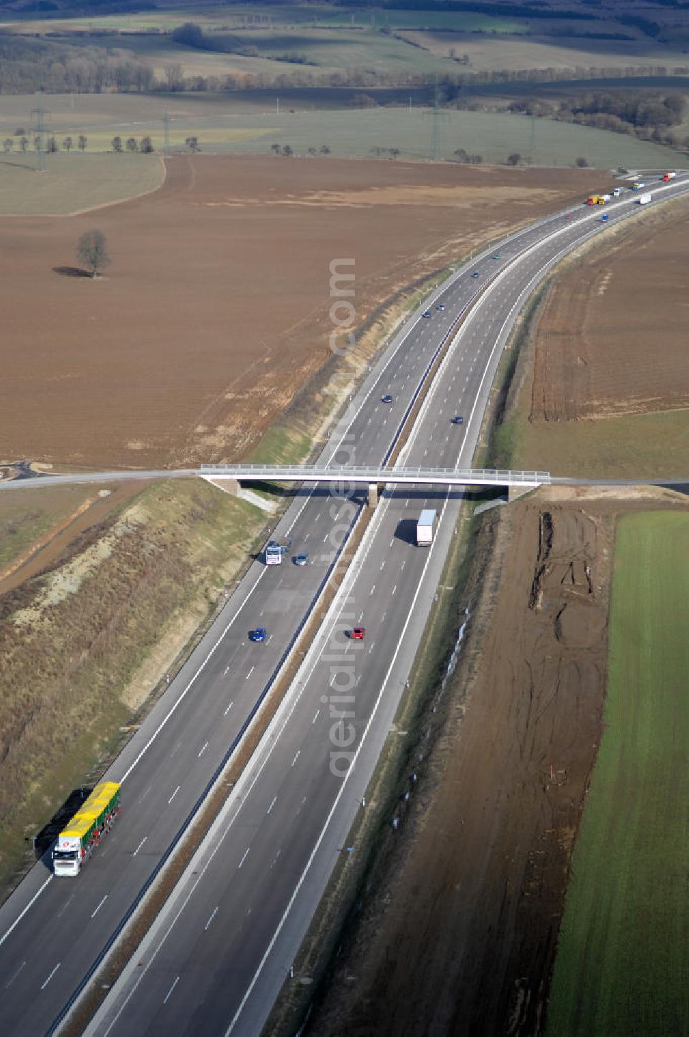
[[(310, 147), (319, 148), (326, 144), (335, 158), (371, 158), (375, 147), (399, 149), (400, 158), (430, 159), (432, 153), (431, 111), (428, 108), (378, 107), (357, 111), (351, 108), (332, 109), (319, 107), (318, 94), (290, 111), (295, 104), (294, 91), (282, 97), (280, 114), (277, 113), (278, 91), (257, 97), (253, 109), (242, 105), (241, 95), (222, 94), (81, 94), (69, 99), (64, 94), (51, 95), (50, 128), (60, 142), (66, 134), (76, 140), (80, 133), (87, 137), (87, 157), (93, 150), (110, 148), (113, 136), (122, 141), (130, 136), (140, 139), (150, 136), (155, 148), (163, 145), (163, 114), (170, 115), (171, 143), (183, 146), (188, 136), (196, 136), (204, 152), (265, 155), (274, 143), (289, 144), (296, 155), (307, 155)], [(74, 108), (71, 107), (74, 101)], [(18, 125), (31, 125), (33, 97), (8, 96), (0, 114), (0, 138), (12, 136)], [(324, 103), (327, 104), (325, 93)], [(504, 163), (511, 151), (528, 156), (540, 166), (573, 166), (579, 156), (588, 160), (592, 166), (603, 169), (619, 165), (630, 168), (660, 168), (677, 165), (677, 152), (657, 144), (638, 141), (624, 134), (608, 133), (590, 127), (568, 122), (552, 122), (546, 119), (532, 120), (519, 115), (495, 112), (444, 111), (440, 115), (439, 140), (440, 157), (452, 160), (458, 147), (483, 155), (486, 163)], [(60, 160), (69, 157), (56, 156), (51, 160), (55, 170), (61, 168)], [(84, 156), (74, 155), (73, 161)], [(110, 197), (117, 185), (110, 183), (114, 172), (126, 181), (123, 194), (150, 190), (154, 178), (152, 169), (144, 175), (146, 162), (153, 162), (150, 156), (114, 156), (120, 162), (118, 167), (109, 165), (109, 157), (101, 156), (106, 179), (91, 177), (89, 191)], [(95, 158), (94, 158), (95, 161)], [(8, 162), (10, 165), (5, 165)], [(7, 177), (17, 175), (15, 165), (23, 162), (32, 166), (33, 155), (27, 152), (22, 159), (15, 153), (0, 159), (0, 203), (7, 204), (3, 196), (2, 181), (9, 185)], [(77, 167), (75, 167), (77, 168)], [(90, 176), (90, 174), (89, 174)], [(144, 176), (145, 184), (139, 177)], [(132, 180), (134, 184), (132, 185)], [(133, 190), (137, 188), (138, 190)], [(9, 188), (5, 188), (5, 191)], [(33, 191), (33, 188), (32, 188)], [(95, 204), (95, 202), (88, 202)], [(83, 206), (86, 207), (86, 206)], [(22, 212), (23, 209), (17, 209)], [(34, 209), (42, 212), (41, 209)], [(67, 209), (62, 209), (67, 211)], [(2, 209), (0, 212), (11, 212)]]

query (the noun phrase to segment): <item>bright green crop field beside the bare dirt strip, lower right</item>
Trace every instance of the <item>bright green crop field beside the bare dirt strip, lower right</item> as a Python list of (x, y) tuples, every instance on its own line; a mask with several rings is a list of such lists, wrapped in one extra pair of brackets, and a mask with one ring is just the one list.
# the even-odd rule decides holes
[(605, 731), (574, 850), (547, 1037), (689, 1032), (689, 515), (621, 520)]

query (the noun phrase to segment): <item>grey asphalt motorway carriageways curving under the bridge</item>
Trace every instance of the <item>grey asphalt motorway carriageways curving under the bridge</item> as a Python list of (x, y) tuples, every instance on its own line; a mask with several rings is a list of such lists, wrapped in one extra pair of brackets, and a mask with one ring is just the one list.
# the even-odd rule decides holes
[[(687, 177), (679, 178), (658, 197), (688, 186)], [(608, 228), (636, 208), (631, 196), (606, 206)], [(501, 348), (524, 299), (563, 254), (592, 232), (608, 232), (598, 218), (583, 207), (547, 218), (457, 273), (429, 303), (431, 317), (418, 314), (395, 338), (321, 460), (384, 463), (438, 346), (483, 292), (400, 457), (405, 466), (470, 467)], [(439, 301), (443, 311), (435, 308)], [(390, 405), (380, 402), (385, 393), (394, 398)], [(450, 424), (455, 414), (464, 415), (463, 425)], [(362, 809), (454, 535), (460, 497), (421, 487), (385, 493), (283, 706), (91, 1032), (260, 1032)], [(411, 542), (413, 521), (427, 504), (443, 512), (430, 552)], [(108, 772), (123, 783), (123, 809), (94, 860), (71, 880), (52, 878), (38, 863), (0, 908), (3, 1033), (34, 1037), (57, 1028), (240, 739), (360, 507), (356, 496), (331, 498), (320, 484), (295, 498), (274, 535), (291, 536), (290, 553), (309, 552), (311, 564), (251, 567)], [(360, 622), (367, 634), (355, 644), (344, 632)], [(248, 641), (256, 625), (267, 628), (266, 643)], [(353, 758), (343, 779), (332, 773), (332, 754), (346, 752)], [(337, 762), (344, 766), (343, 760)]]

